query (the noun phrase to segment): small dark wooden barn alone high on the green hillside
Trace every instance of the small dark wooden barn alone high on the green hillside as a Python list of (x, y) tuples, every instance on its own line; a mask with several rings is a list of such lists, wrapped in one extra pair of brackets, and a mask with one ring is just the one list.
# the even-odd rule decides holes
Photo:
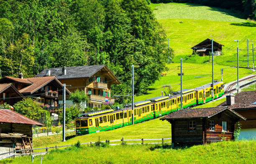
[[(222, 51), (222, 44), (215, 42), (213, 40), (213, 53), (215, 56), (219, 56)], [(211, 55), (212, 53), (212, 40), (207, 38), (206, 40), (200, 42), (199, 44), (195, 45), (191, 48), (193, 50), (192, 54), (199, 54), (200, 56), (207, 56)]]

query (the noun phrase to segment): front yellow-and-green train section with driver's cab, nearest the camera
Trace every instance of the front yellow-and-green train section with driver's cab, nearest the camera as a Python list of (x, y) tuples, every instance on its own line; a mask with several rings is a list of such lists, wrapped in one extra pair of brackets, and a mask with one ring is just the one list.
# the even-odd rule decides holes
[[(153, 106), (150, 101), (136, 102), (134, 106), (134, 123), (154, 118)], [(80, 114), (75, 119), (76, 134), (90, 134), (130, 125), (132, 123), (131, 114), (131, 107), (115, 111), (108, 109)]]

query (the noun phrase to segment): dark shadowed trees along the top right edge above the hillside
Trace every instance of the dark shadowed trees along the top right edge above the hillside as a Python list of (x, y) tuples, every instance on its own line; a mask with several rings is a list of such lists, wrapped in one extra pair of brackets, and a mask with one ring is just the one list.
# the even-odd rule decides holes
[(243, 12), (244, 18), (256, 20), (256, 0), (150, 0), (152, 3), (189, 2)]

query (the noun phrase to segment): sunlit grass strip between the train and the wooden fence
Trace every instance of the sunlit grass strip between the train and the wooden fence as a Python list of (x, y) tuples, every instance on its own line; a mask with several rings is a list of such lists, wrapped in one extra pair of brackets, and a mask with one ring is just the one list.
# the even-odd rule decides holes
[(33, 146), (52, 147), (55, 145), (68, 145), (76, 143), (77, 140), (79, 140), (81, 143), (91, 141), (95, 142), (98, 141), (99, 136), (101, 141), (105, 141), (106, 139), (122, 139), (122, 137), (125, 139), (169, 138), (171, 135), (171, 124), (169, 124), (169, 122), (161, 121), (160, 119), (154, 119), (144, 123), (130, 125), (115, 130), (73, 137), (66, 142), (61, 142), (61, 135), (37, 137), (33, 138)]

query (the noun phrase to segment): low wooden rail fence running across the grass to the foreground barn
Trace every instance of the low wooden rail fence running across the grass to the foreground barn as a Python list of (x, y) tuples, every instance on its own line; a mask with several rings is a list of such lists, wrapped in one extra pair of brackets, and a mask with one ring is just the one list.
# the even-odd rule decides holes
[[(171, 141), (169, 142), (164, 142), (164, 140), (166, 139), (172, 139), (172, 138), (159, 138), (159, 139), (117, 139), (117, 140), (105, 140), (105, 141), (100, 141), (100, 137), (99, 137), (99, 142), (106, 142), (106, 143), (109, 143), (109, 145), (123, 145), (123, 144), (165, 144), (165, 143), (170, 143)], [(161, 142), (144, 142), (144, 141), (159, 141), (161, 140)], [(137, 142), (137, 143), (125, 143), (125, 141), (141, 141), (141, 142)], [(110, 144), (112, 142), (122, 142), (122, 143), (119, 143), (119, 144)], [(86, 142), (86, 143), (82, 143), (81, 145), (83, 144), (87, 144), (88, 146), (92, 146), (92, 144), (94, 144), (95, 142)], [(63, 145), (63, 146), (55, 146), (55, 147), (42, 147), (42, 148), (33, 148), (33, 149), (22, 149), (22, 150), (15, 150), (15, 148), (13, 149), (13, 151), (10, 151), (10, 152), (6, 152), (6, 153), (2, 153), (0, 154), (0, 160), (2, 159), (6, 159), (6, 158), (15, 158), (15, 157), (19, 157), (19, 156), (23, 156), (23, 155), (38, 155), (38, 154), (46, 154), (48, 152), (49, 149), (55, 149), (57, 150), (58, 147), (71, 147), (71, 146), (74, 146), (74, 144), (71, 144), (71, 145)], [(100, 148), (100, 144), (99, 144), (99, 148)], [(40, 150), (40, 149), (45, 149), (46, 151), (45, 152), (34, 152), (33, 150)], [(25, 153), (17, 153), (17, 152), (25, 152)], [(5, 154), (8, 154), (7, 156), (5, 157), (1, 157)]]

